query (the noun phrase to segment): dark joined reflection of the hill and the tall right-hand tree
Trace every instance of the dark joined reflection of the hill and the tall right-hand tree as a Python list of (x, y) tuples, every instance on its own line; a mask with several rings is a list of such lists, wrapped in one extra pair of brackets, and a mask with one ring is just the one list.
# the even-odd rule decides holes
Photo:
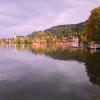
[(91, 54), (86, 49), (69, 48), (62, 50), (58, 48), (57, 51), (49, 55), (54, 59), (84, 62), (90, 81), (100, 86), (100, 52)]

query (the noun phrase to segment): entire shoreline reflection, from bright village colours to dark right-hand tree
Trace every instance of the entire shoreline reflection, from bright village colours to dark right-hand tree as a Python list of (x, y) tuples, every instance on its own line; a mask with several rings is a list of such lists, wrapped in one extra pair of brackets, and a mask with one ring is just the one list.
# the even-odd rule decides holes
[[(10, 45), (9, 47), (15, 47)], [(91, 52), (85, 48), (66, 48), (64, 46), (50, 45), (16, 45), (18, 50), (29, 50), (35, 54), (45, 54), (59, 60), (76, 60), (84, 62), (87, 75), (93, 84), (100, 85), (100, 52)]]

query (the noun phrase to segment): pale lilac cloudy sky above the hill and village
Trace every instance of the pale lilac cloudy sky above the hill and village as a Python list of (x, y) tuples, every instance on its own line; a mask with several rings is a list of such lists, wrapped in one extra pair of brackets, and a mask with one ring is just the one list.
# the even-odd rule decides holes
[(98, 6), (100, 0), (0, 0), (0, 37), (84, 22)]

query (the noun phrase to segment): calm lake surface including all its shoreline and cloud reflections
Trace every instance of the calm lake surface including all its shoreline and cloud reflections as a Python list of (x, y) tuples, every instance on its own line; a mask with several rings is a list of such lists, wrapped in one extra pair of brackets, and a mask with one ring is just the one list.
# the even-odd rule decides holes
[(0, 100), (100, 100), (100, 51), (0, 46)]

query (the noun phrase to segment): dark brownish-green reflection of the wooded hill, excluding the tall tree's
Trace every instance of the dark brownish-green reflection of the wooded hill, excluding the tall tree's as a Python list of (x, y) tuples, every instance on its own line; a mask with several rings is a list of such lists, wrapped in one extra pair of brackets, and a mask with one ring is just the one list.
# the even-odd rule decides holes
[(47, 53), (47, 55), (51, 56), (55, 59), (60, 60), (78, 60), (81, 61), (81, 52), (78, 48), (68, 48), (66, 50), (62, 50), (62, 48), (58, 48), (57, 51)]

